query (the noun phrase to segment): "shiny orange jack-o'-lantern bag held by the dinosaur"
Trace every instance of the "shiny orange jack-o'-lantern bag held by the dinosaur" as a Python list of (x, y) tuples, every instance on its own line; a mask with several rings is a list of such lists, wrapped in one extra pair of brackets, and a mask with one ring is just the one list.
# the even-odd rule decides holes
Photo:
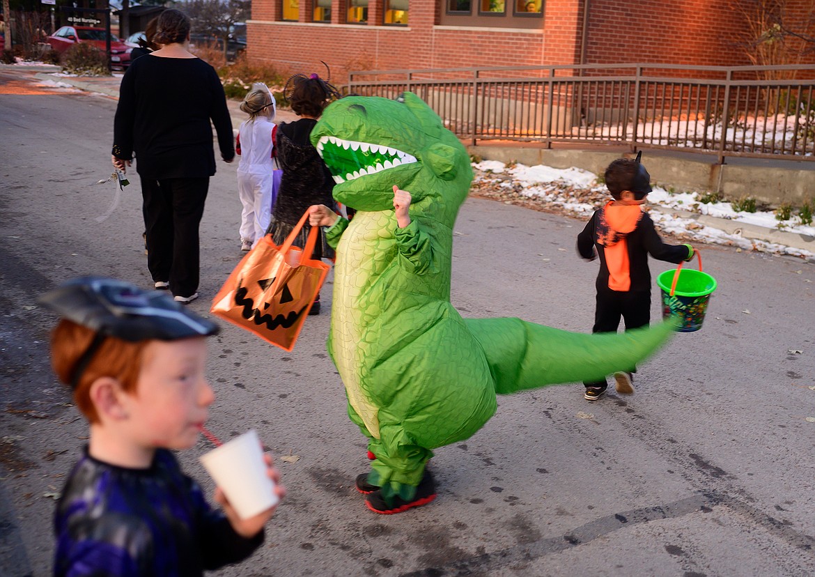
[(258, 240), (212, 302), (214, 315), (284, 350), (294, 348), (331, 268), (311, 258), (318, 227), (311, 227), (303, 249), (292, 246), (306, 218), (307, 212), (281, 246), (272, 242), (271, 235)]

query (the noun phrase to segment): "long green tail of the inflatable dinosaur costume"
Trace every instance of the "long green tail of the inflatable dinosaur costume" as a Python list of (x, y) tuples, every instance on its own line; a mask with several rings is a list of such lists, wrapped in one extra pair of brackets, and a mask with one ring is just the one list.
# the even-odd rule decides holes
[(625, 333), (570, 333), (521, 319), (465, 319), (481, 343), (496, 393), (601, 381), (630, 371), (671, 337), (671, 321)]

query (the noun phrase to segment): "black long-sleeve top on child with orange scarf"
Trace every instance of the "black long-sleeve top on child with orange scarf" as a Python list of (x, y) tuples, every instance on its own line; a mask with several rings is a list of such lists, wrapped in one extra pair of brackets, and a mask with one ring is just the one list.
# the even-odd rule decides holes
[[(583, 231), (577, 236), (577, 252), (581, 257), (593, 259), (595, 249), (600, 257), (600, 271), (597, 273), (597, 290), (609, 289), (609, 266), (606, 262), (606, 246), (598, 242), (600, 236), (605, 236), (601, 227), (602, 211), (597, 210), (591, 220), (586, 223)], [(607, 231), (606, 231), (607, 234)], [(630, 291), (643, 291), (650, 293), (651, 271), (648, 266), (648, 255), (659, 261), (673, 262), (674, 264), (688, 258), (690, 249), (685, 244), (665, 244), (654, 228), (654, 221), (648, 213), (642, 213), (637, 227), (625, 236), (628, 252), (628, 276), (631, 279)]]

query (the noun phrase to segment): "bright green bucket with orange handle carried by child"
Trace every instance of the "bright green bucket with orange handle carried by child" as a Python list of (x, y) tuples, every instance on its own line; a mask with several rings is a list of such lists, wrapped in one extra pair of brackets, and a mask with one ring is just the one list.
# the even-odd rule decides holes
[(707, 303), (716, 290), (716, 279), (702, 271), (702, 255), (696, 251), (699, 270), (682, 270), (681, 263), (673, 271), (657, 276), (662, 291), (663, 319), (675, 316), (680, 333), (693, 333), (702, 328)]

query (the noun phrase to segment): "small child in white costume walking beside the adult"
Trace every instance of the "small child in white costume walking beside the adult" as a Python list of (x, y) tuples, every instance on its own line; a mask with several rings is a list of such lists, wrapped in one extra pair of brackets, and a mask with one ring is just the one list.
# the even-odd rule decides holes
[(271, 218), (274, 178), (272, 156), (275, 149), (275, 97), (265, 84), (252, 85), (240, 109), (249, 119), (240, 125), (236, 142), (238, 196), (244, 209), (240, 214), (240, 249), (249, 250), (266, 234)]

